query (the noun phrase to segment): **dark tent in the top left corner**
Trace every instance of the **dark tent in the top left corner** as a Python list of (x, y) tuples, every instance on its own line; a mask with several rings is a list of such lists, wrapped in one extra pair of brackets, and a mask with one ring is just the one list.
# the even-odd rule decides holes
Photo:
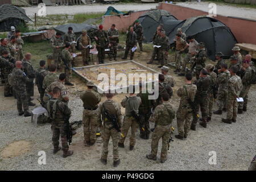
[(22, 24), (25, 26), (28, 21), (32, 20), (22, 8), (9, 4), (0, 6), (0, 32), (11, 31), (11, 26), (15, 28)]

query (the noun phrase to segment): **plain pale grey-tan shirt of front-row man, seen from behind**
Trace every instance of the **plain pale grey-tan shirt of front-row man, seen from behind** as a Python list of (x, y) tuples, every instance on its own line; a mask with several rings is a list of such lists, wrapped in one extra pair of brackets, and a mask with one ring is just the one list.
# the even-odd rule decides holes
[(123, 98), (121, 105), (125, 107), (125, 116), (131, 117), (131, 111), (139, 114), (139, 105), (141, 105), (141, 98), (137, 96), (130, 96)]

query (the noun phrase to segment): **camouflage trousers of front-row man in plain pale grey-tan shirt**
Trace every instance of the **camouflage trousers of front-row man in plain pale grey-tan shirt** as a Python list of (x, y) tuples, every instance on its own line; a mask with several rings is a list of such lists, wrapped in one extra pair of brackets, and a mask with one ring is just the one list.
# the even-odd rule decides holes
[(136, 132), (139, 127), (138, 123), (135, 121), (133, 117), (126, 117), (123, 119), (123, 127), (122, 127), (122, 134), (124, 137), (121, 137), (120, 143), (125, 142), (125, 138), (127, 133), (131, 127), (131, 137), (130, 137), (130, 146), (135, 146), (136, 143)]

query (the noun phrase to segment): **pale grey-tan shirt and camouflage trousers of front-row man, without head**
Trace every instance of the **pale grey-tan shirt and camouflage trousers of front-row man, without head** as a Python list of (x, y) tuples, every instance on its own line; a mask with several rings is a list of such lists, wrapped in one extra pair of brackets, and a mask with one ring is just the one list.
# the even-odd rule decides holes
[[(130, 146), (135, 146), (136, 132), (139, 127), (135, 118), (131, 116), (131, 111), (134, 110), (136, 114), (139, 114), (139, 105), (141, 105), (141, 98), (137, 96), (126, 97), (122, 100), (121, 105), (125, 107), (125, 118), (123, 119), (122, 137), (119, 143), (124, 143), (127, 133), (131, 127)], [(132, 108), (131, 108), (132, 107)]]

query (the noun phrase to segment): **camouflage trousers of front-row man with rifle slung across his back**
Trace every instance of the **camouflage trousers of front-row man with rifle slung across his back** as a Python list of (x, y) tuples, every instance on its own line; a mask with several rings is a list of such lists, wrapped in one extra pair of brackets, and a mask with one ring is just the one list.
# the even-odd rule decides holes
[(103, 150), (101, 154), (101, 159), (107, 159), (108, 158), (108, 146), (109, 146), (109, 139), (112, 138), (113, 142), (113, 160), (117, 161), (119, 160), (119, 154), (118, 154), (118, 140), (119, 140), (119, 133), (117, 130), (112, 129), (109, 130), (109, 127), (112, 125), (105, 125), (103, 130)]

